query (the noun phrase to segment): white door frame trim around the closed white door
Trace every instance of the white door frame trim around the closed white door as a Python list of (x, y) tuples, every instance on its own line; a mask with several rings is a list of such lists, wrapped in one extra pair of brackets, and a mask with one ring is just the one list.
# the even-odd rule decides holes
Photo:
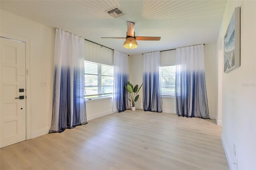
[(26, 60), (26, 140), (32, 138), (32, 115), (31, 115), (31, 72), (30, 72), (30, 38), (18, 36), (8, 32), (0, 31), (1, 38), (16, 40), (25, 43)]

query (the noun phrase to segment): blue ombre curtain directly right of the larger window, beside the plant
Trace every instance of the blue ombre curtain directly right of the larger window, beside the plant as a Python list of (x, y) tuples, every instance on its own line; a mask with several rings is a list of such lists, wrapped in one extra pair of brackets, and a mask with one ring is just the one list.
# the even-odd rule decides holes
[(124, 87), (128, 81), (128, 55), (114, 50), (114, 111), (123, 112), (130, 109), (130, 102), (126, 98), (129, 94)]

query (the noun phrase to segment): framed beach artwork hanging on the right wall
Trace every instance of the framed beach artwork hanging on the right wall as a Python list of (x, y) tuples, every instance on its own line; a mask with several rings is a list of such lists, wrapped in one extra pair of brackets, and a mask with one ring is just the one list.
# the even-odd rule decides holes
[(235, 8), (224, 36), (224, 73), (240, 66), (240, 7)]

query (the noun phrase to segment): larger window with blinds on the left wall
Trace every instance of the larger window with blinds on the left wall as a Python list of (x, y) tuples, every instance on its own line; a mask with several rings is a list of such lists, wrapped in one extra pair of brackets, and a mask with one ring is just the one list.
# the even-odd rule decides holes
[(84, 61), (84, 73), (85, 99), (113, 95), (114, 67), (112, 65)]

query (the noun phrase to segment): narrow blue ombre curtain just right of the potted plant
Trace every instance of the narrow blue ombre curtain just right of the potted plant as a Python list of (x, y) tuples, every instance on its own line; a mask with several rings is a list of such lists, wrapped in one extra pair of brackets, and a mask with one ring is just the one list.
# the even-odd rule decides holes
[(143, 109), (144, 111), (162, 112), (160, 51), (144, 53), (143, 58)]

